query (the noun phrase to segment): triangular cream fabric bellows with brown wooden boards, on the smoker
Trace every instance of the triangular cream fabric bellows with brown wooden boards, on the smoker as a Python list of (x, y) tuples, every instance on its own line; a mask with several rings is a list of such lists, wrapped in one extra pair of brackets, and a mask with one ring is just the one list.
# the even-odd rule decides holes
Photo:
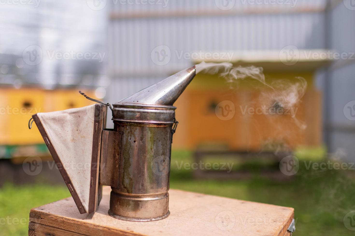
[(94, 212), (102, 195), (98, 178), (106, 113), (105, 105), (94, 104), (32, 116), (81, 214)]

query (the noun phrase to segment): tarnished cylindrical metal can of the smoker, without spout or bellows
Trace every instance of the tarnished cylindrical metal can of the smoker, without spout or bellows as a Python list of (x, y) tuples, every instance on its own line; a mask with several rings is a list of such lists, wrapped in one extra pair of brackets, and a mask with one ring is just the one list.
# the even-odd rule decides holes
[(114, 105), (114, 130), (121, 145), (118, 183), (112, 187), (112, 217), (153, 221), (168, 217), (169, 175), (175, 107)]

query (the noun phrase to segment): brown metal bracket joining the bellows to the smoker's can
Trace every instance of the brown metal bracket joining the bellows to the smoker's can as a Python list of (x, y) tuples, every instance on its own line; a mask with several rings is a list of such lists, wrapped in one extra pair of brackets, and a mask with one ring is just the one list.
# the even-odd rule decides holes
[(118, 166), (122, 133), (104, 129), (101, 136), (99, 184), (118, 188)]

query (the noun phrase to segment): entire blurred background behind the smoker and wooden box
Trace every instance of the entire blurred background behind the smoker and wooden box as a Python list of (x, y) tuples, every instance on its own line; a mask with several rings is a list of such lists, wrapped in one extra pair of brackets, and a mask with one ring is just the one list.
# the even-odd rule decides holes
[(203, 61), (262, 67), (296, 102), (198, 74), (174, 104), (170, 187), (294, 207), (294, 235), (354, 234), (354, 0), (6, 0), (0, 19), (0, 235), (70, 196), (31, 115), (93, 104), (79, 90), (114, 103)]

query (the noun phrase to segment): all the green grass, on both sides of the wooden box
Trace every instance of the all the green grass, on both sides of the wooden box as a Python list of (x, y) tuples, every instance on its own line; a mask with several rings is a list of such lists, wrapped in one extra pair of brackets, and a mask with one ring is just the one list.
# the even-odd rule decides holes
[[(343, 224), (345, 214), (355, 210), (355, 181), (348, 177), (349, 171), (307, 170), (300, 159), (299, 172), (288, 181), (257, 176), (249, 180), (195, 180), (191, 170), (176, 166), (176, 161), (191, 163), (191, 160), (190, 152), (173, 152), (170, 188), (293, 207), (295, 236), (354, 235)], [(27, 235), (31, 208), (67, 196), (70, 194), (65, 186), (6, 184), (0, 189), (0, 218), (26, 218), (26, 224), (0, 225), (0, 235)]]

